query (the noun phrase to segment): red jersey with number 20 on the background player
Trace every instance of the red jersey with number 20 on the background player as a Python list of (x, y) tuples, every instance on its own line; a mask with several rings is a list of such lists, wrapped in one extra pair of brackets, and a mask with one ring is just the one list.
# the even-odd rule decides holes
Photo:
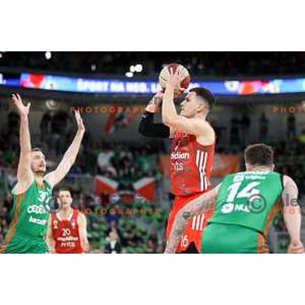
[(68, 219), (60, 219), (56, 214), (52, 214), (51, 226), (56, 253), (82, 253), (77, 225), (78, 215), (79, 211), (75, 209), (71, 209)]

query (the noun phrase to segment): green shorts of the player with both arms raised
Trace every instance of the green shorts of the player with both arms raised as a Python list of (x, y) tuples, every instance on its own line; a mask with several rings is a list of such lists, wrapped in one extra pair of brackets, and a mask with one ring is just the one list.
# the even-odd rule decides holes
[(25, 237), (24, 235), (15, 234), (10, 242), (4, 243), (2, 253), (49, 253), (48, 246), (43, 237)]

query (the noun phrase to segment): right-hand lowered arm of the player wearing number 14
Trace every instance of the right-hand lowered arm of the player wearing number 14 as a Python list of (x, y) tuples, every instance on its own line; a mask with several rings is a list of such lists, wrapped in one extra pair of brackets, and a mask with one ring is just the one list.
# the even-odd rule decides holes
[(288, 253), (304, 253), (300, 240), (301, 214), (297, 203), (298, 189), (293, 179), (288, 176), (283, 177), (283, 184), (284, 221), (290, 236)]

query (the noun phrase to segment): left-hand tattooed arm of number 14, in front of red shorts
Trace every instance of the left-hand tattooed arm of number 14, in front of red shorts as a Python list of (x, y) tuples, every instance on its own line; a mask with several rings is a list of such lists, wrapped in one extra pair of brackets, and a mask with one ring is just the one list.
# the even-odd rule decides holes
[(216, 188), (188, 203), (184, 208), (181, 208), (175, 218), (165, 253), (175, 253), (179, 239), (186, 230), (189, 220), (193, 215), (204, 214), (204, 212), (210, 210), (211, 207), (214, 206), (220, 186), (221, 185), (218, 185)]

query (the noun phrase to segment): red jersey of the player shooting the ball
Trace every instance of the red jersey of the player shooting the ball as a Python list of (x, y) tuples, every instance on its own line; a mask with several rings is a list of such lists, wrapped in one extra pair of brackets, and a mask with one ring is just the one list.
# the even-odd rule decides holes
[(171, 147), (171, 191), (176, 196), (207, 192), (215, 142), (203, 146), (196, 136), (175, 132)]

